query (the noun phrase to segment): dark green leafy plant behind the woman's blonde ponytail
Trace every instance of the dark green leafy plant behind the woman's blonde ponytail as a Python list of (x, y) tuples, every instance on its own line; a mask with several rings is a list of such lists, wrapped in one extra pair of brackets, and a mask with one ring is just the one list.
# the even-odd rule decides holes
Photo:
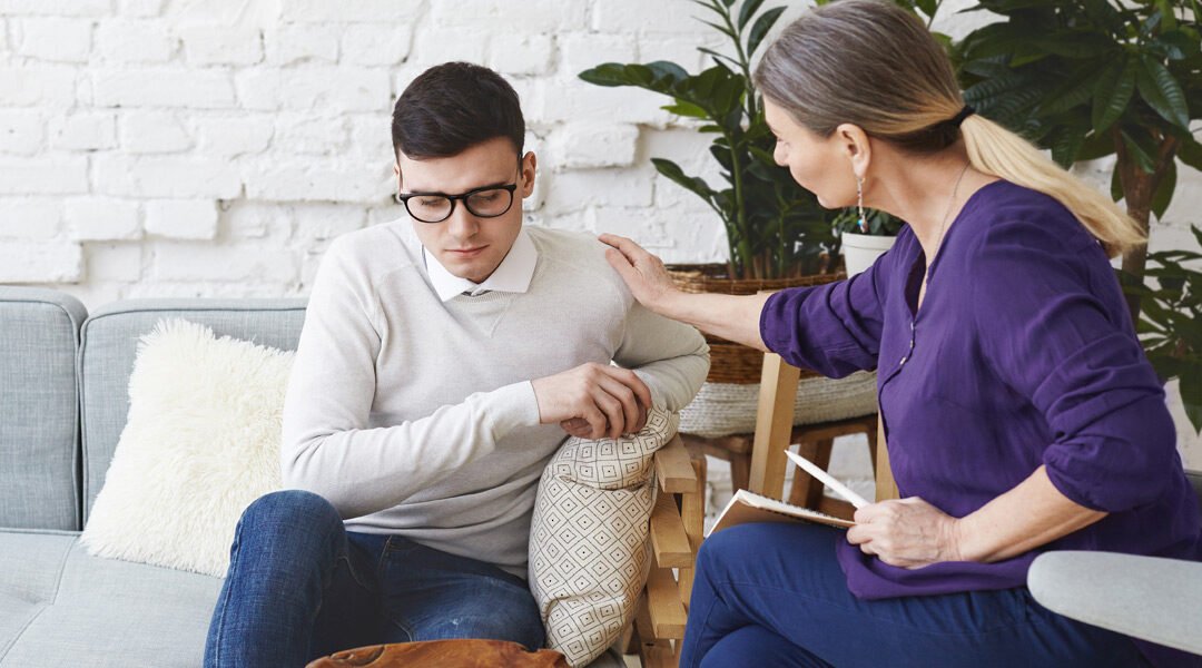
[[(939, 8), (936, 0), (900, 4), (932, 17)], [(1177, 162), (1202, 169), (1189, 127), (1202, 118), (1200, 1), (980, 0), (975, 10), (1005, 20), (951, 44), (965, 100), (1061, 166), (1117, 155), (1111, 193), (1148, 232), (1173, 197)], [(1124, 255), (1119, 280), (1149, 360), (1164, 381), (1180, 378), (1202, 431), (1202, 274), (1184, 266), (1200, 260), (1137, 247)]]

